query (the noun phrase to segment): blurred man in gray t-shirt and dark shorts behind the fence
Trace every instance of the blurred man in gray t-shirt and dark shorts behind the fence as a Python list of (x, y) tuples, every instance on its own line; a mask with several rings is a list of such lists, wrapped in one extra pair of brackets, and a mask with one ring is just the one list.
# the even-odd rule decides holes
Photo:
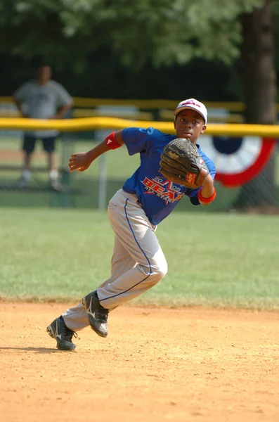
[[(30, 119), (61, 119), (72, 108), (72, 97), (61, 84), (51, 80), (49, 66), (38, 68), (37, 79), (22, 84), (13, 94), (13, 99), (22, 116)], [(22, 143), (24, 162), (20, 187), (25, 188), (30, 184), (32, 153), (37, 139), (41, 139), (48, 159), (51, 188), (56, 191), (61, 190), (55, 155), (58, 134), (58, 130), (54, 129), (25, 132)]]

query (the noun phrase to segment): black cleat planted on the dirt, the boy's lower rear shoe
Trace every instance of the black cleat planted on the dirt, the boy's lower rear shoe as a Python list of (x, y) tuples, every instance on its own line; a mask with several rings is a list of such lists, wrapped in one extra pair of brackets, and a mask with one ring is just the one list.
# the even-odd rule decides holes
[(56, 318), (51, 325), (46, 328), (46, 332), (57, 341), (56, 347), (59, 350), (74, 350), (76, 347), (72, 343), (72, 336), (77, 337), (77, 333), (67, 328), (63, 316)]

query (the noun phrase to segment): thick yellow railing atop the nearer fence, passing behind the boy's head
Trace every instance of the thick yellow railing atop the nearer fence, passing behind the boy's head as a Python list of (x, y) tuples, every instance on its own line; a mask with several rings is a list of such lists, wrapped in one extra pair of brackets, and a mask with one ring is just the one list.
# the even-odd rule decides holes
[[(84, 132), (95, 129), (124, 129), (125, 127), (154, 127), (175, 133), (172, 122), (124, 120), (116, 117), (88, 117), (66, 120), (36, 120), (23, 118), (0, 119), (0, 129), (58, 129), (61, 132)], [(226, 136), (265, 136), (279, 138), (279, 125), (268, 124), (208, 124), (207, 134)]]

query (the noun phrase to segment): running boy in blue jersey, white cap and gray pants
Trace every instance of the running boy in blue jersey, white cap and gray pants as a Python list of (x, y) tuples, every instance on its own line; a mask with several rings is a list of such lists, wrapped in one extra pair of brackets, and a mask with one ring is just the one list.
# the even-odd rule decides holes
[[(174, 110), (176, 135), (164, 134), (152, 127), (129, 127), (112, 132), (91, 151), (71, 156), (70, 171), (83, 172), (101, 154), (125, 144), (129, 155), (141, 155), (141, 165), (108, 204), (108, 216), (115, 232), (110, 279), (47, 327), (58, 349), (74, 350), (72, 336), (89, 325), (98, 335), (106, 337), (108, 313), (141, 295), (167, 274), (167, 261), (155, 235), (157, 224), (183, 196), (188, 196), (193, 205), (208, 205), (216, 196), (214, 163), (196, 143), (206, 125), (205, 105), (189, 98)], [(176, 138), (190, 139), (207, 164), (209, 174), (201, 188), (176, 184), (160, 173), (160, 155), (167, 143)]]

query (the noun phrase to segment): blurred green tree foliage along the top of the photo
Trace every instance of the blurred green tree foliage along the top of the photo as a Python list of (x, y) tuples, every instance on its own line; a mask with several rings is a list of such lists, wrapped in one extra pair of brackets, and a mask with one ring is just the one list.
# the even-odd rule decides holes
[[(56, 64), (110, 47), (124, 65), (238, 57), (238, 17), (263, 0), (1, 0), (0, 51)], [(20, 40), (20, 42), (19, 42)]]

